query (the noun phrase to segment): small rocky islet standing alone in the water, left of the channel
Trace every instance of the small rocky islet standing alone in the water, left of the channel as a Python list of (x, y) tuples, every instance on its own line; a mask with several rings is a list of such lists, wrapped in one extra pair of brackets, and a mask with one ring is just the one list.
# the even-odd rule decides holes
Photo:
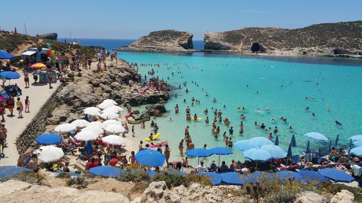
[(139, 38), (128, 47), (118, 47), (116, 51), (134, 52), (187, 52), (193, 50), (193, 35), (178, 30), (160, 30)]

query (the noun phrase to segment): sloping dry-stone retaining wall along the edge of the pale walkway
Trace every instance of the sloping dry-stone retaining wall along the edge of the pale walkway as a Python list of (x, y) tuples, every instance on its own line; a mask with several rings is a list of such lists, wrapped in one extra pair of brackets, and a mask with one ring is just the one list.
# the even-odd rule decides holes
[(27, 151), (34, 151), (39, 148), (39, 144), (35, 142), (38, 135), (41, 135), (45, 130), (45, 122), (47, 119), (48, 108), (55, 108), (57, 94), (62, 90), (63, 86), (58, 86), (57, 90), (47, 99), (46, 103), (39, 109), (38, 113), (30, 121), (28, 126), (16, 139), (15, 144), (19, 154), (24, 154)]

